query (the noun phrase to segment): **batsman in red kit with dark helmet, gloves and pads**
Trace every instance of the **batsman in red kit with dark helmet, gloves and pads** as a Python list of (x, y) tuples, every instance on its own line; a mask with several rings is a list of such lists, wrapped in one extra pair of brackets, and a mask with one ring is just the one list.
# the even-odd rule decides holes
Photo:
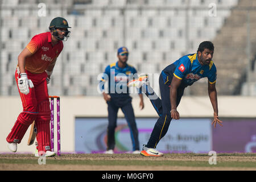
[(68, 39), (67, 20), (61, 17), (52, 19), (49, 32), (35, 35), (18, 56), (15, 80), (18, 85), (23, 111), (19, 114), (11, 133), (6, 138), (8, 147), (16, 152), (28, 127), (35, 121), (39, 155), (54, 156), (51, 151), (49, 122), (48, 88), (57, 57)]

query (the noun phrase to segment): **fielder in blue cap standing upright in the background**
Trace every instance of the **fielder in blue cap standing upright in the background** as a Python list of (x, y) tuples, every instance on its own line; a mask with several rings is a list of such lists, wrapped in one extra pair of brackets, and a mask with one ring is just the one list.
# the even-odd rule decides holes
[[(137, 73), (136, 69), (131, 65), (127, 64), (129, 52), (126, 47), (121, 47), (117, 51), (118, 61), (110, 64), (106, 67), (104, 75), (100, 81), (100, 90), (104, 97), (104, 100), (108, 104), (108, 148), (105, 154), (113, 154), (115, 147), (115, 127), (117, 127), (117, 112), (121, 108), (127, 124), (130, 129), (131, 141), (133, 143), (133, 154), (139, 154), (139, 139), (138, 129), (135, 122), (135, 115), (133, 106), (131, 105), (132, 98), (129, 95), (129, 88), (127, 83)], [(104, 82), (108, 81), (108, 93), (105, 92)], [(144, 108), (143, 96), (139, 93), (141, 101), (139, 106), (141, 109)]]

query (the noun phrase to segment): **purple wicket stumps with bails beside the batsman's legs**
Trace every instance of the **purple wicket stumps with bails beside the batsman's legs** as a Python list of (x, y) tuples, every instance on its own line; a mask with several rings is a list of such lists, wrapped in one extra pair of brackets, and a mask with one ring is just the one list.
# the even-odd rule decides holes
[(49, 96), (51, 99), (51, 147), (54, 152), (54, 98), (57, 100), (57, 155), (60, 155), (60, 97)]

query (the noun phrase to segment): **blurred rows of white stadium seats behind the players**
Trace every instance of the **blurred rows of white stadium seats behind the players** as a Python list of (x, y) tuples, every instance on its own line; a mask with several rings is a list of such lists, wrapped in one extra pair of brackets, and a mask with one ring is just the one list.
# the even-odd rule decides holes
[[(129, 64), (138, 67), (139, 72), (159, 73), (184, 53), (195, 52), (201, 41), (214, 40), (225, 18), (231, 14), (230, 9), (238, 3), (237, 0), (187, 2), (3, 0), (0, 11), (1, 75), (9, 81), (1, 94), (18, 94), (12, 80), (18, 54), (32, 36), (48, 31), (55, 16), (66, 18), (72, 28), (56, 63), (50, 94), (100, 95), (97, 75), (104, 72), (108, 64), (117, 61), (117, 48), (121, 46), (127, 46)], [(212, 2), (226, 7), (214, 18), (209, 17), (208, 10), (203, 10)], [(46, 3), (45, 17), (38, 16), (38, 3)], [(73, 3), (79, 4), (76, 11), (72, 11)], [(186, 12), (186, 6), (193, 9)]]

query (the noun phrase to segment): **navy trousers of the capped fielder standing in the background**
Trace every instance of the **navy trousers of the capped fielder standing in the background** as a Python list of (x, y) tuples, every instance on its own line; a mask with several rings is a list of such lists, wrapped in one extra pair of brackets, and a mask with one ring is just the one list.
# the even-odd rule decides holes
[(131, 142), (133, 143), (133, 151), (139, 150), (139, 139), (138, 139), (138, 129), (135, 122), (135, 115), (133, 111), (133, 106), (131, 105), (132, 98), (129, 97), (114, 97), (110, 94), (111, 100), (107, 102), (108, 104), (108, 149), (114, 150), (115, 147), (115, 127), (117, 127), (117, 112), (121, 108), (123, 114), (125, 115), (127, 125), (130, 129)]

